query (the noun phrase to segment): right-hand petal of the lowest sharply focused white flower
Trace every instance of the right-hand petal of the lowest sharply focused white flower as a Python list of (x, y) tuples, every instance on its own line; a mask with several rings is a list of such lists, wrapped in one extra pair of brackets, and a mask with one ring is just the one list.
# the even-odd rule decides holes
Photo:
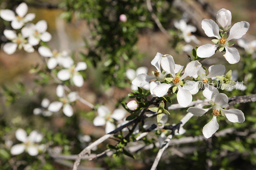
[(225, 109), (222, 109), (222, 108), (220, 110), (226, 115), (227, 119), (230, 122), (243, 123), (244, 120), (245, 120), (244, 113), (241, 110), (238, 110), (238, 109), (225, 110)]

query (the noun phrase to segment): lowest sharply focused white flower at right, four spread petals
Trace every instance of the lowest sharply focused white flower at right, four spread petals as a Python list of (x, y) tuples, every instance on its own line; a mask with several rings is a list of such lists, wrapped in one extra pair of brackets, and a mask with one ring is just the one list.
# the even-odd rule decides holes
[(228, 109), (225, 110), (223, 109), (226, 107), (228, 104), (228, 96), (224, 93), (218, 93), (215, 94), (209, 103), (212, 105), (212, 107), (208, 109), (203, 109), (199, 107), (189, 107), (188, 112), (192, 113), (193, 115), (196, 116), (202, 116), (204, 113), (212, 109), (212, 120), (208, 122), (204, 128), (203, 128), (203, 135), (206, 138), (211, 137), (218, 129), (219, 129), (219, 124), (217, 122), (217, 117), (220, 115), (225, 115), (227, 119), (230, 122), (239, 122), (243, 123), (245, 118), (244, 118), (244, 113), (241, 110), (238, 109)]

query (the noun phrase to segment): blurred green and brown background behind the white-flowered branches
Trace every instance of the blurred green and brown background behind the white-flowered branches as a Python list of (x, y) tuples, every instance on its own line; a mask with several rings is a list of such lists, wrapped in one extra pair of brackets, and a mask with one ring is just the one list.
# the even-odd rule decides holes
[[(15, 9), (23, 1), (1, 0), (1, 9)], [(34, 23), (45, 19), (48, 30), (53, 38), (49, 45), (53, 48), (70, 48), (76, 61), (85, 61), (85, 84), (77, 90), (82, 97), (92, 103), (105, 104), (114, 110), (116, 103), (127, 101), (131, 92), (130, 81), (125, 76), (128, 68), (136, 69), (147, 66), (148, 72), (154, 70), (150, 61), (156, 52), (171, 54), (175, 63), (185, 65), (188, 57), (181, 48), (186, 43), (178, 36), (179, 31), (173, 27), (173, 21), (180, 19), (184, 11), (173, 6), (173, 1), (152, 2), (153, 12), (168, 30), (170, 37), (159, 31), (151, 17), (145, 1), (25, 1), (29, 12), (36, 13)], [(191, 1), (203, 11), (197, 1)], [(191, 2), (187, 2), (191, 4)], [(247, 34), (255, 39), (255, 1), (210, 1), (209, 5), (218, 11), (226, 8), (232, 12), (232, 23), (245, 20), (250, 23)], [(221, 6), (220, 6), (221, 4)], [(125, 14), (126, 22), (120, 22), (119, 16)], [(242, 15), (243, 14), (243, 15)], [(203, 18), (209, 16), (205, 15)], [(212, 18), (215, 20), (215, 18)], [(3, 30), (10, 28), (8, 22), (1, 22), (1, 46), (4, 44)], [(193, 21), (188, 21), (190, 24)], [(63, 24), (64, 23), (64, 24)], [(197, 26), (198, 27), (198, 26)], [(200, 27), (200, 26), (199, 26)], [(65, 34), (63, 31), (65, 30)], [(201, 44), (210, 43), (209, 38), (195, 33)], [(63, 37), (64, 40), (63, 40)], [(250, 36), (248, 39), (251, 38)], [(63, 44), (66, 44), (63, 45)], [(68, 46), (67, 46), (68, 45)], [(191, 43), (193, 47), (197, 45)], [(245, 91), (220, 91), (232, 97), (235, 95), (255, 94), (255, 55), (246, 54), (238, 48), (241, 60), (237, 64), (228, 64), (222, 54), (216, 53), (202, 64), (209, 67), (213, 64), (224, 64), (226, 70), (238, 70), (238, 81), (244, 81)], [(38, 65), (37, 65), (38, 64)], [(49, 70), (41, 61), (39, 55), (24, 51), (9, 56), (1, 50), (1, 169), (70, 169), (72, 160), (53, 159), (48, 152), (37, 157), (27, 153), (18, 156), (10, 155), (7, 140), (18, 143), (15, 131), (25, 129), (28, 133), (34, 129), (44, 134), (42, 143), (47, 144), (54, 152), (64, 155), (78, 154), (84, 145), (78, 135), (87, 134), (92, 141), (105, 134), (102, 127), (94, 127), (92, 120), (96, 112), (82, 103), (74, 106), (76, 114), (66, 117), (62, 113), (51, 117), (33, 115), (33, 109), (40, 106), (43, 98), (57, 99), (54, 81), (49, 76)], [(30, 72), (30, 73), (29, 73)], [(33, 73), (33, 74), (31, 74)], [(68, 82), (66, 82), (68, 83)], [(193, 100), (203, 99), (202, 92), (193, 96)], [(173, 100), (173, 103), (177, 101)], [(159, 169), (255, 169), (255, 103), (245, 103), (233, 106), (244, 112), (244, 123), (231, 123), (225, 118), (219, 118), (220, 130), (235, 127), (237, 132), (225, 137), (212, 137), (191, 144), (170, 146), (163, 155)], [(231, 108), (233, 108), (231, 107)], [(186, 109), (175, 110), (169, 116), (169, 124), (178, 123), (186, 114)], [(152, 118), (155, 121), (155, 118)], [(203, 126), (210, 116), (193, 117), (184, 126), (186, 133), (180, 137), (202, 135)], [(140, 144), (156, 142), (158, 134), (150, 133)], [(106, 149), (106, 144), (115, 144), (109, 139), (98, 146), (95, 153)], [(102, 167), (106, 169), (149, 169), (155, 159), (158, 149), (138, 152), (136, 160), (119, 155), (106, 157), (95, 161), (83, 161), (84, 167)], [(179, 152), (178, 152), (179, 151)], [(211, 165), (211, 167), (208, 167)]]

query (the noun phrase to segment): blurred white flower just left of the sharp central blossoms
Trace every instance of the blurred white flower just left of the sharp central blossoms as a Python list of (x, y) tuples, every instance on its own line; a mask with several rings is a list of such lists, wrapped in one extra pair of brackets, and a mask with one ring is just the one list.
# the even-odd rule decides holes
[[(129, 80), (134, 80), (134, 78), (136, 78), (136, 76), (138, 76), (139, 74), (147, 74), (148, 73), (148, 68), (147, 67), (139, 67), (136, 71), (133, 69), (127, 69), (126, 70), (126, 77)], [(149, 90), (149, 83), (143, 86), (144, 89)], [(131, 89), (132, 90), (138, 90), (138, 86), (136, 85), (131, 85)]]

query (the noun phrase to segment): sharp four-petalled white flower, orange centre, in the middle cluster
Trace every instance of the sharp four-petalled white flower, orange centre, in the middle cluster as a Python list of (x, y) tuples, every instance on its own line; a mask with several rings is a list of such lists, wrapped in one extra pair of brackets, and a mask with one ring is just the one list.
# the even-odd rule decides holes
[(183, 82), (181, 80), (186, 77), (194, 76), (198, 72), (202, 64), (199, 63), (198, 61), (192, 61), (188, 63), (187, 67), (184, 70), (184, 74), (182, 76), (180, 76), (180, 72), (183, 69), (183, 66), (175, 64), (172, 58), (172, 55), (164, 55), (161, 59), (161, 66), (166, 73), (171, 74), (172, 83), (170, 84), (162, 83), (162, 84), (156, 85), (156, 87), (153, 89), (153, 93), (157, 97), (162, 97), (169, 91), (169, 88), (173, 86), (172, 88), (173, 92), (175, 92), (176, 89), (178, 89), (178, 93), (177, 93), (178, 103), (180, 104), (181, 107), (187, 107), (192, 101), (192, 95), (189, 92), (189, 90), (186, 90), (181, 87), (181, 85), (183, 85)]

